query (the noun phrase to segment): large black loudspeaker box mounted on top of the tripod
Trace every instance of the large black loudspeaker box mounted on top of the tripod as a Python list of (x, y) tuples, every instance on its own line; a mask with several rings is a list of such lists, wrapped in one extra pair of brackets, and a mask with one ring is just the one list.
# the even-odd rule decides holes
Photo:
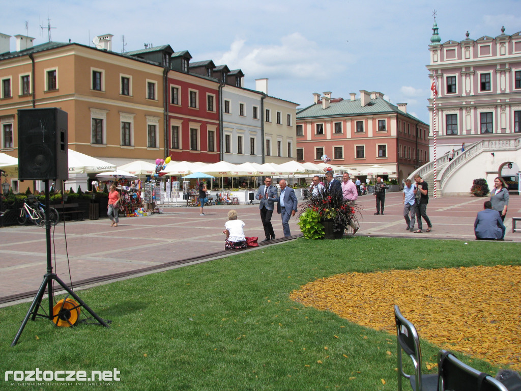
[(69, 179), (67, 119), (56, 107), (18, 110), (18, 179)]

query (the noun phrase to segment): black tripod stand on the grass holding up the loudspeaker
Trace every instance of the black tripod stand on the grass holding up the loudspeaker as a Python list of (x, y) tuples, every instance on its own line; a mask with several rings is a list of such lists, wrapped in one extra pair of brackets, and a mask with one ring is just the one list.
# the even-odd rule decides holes
[[(49, 180), (45, 179), (45, 231), (46, 231), (46, 244), (47, 244), (47, 273), (43, 276), (43, 282), (42, 285), (40, 285), (40, 289), (38, 289), (38, 293), (36, 294), (36, 297), (34, 298), (31, 307), (29, 308), (29, 311), (27, 311), (26, 317), (23, 319), (23, 322), (20, 326), (20, 329), (18, 330), (18, 333), (16, 334), (15, 339), (13, 340), (13, 343), (11, 346), (15, 346), (18, 342), (18, 339), (22, 335), (23, 328), (26, 326), (27, 322), (29, 321), (29, 317), (32, 315), (32, 320), (34, 321), (36, 319), (36, 316), (40, 317), (46, 317), (47, 319), (54, 321), (56, 317), (64, 316), (65, 321), (67, 321), (66, 314), (63, 311), (63, 308), (60, 310), (60, 312), (56, 315), (54, 315), (54, 308), (53, 308), (53, 301), (54, 301), (54, 290), (53, 290), (53, 282), (56, 281), (65, 291), (68, 292), (70, 296), (72, 296), (79, 304), (77, 307), (83, 307), (86, 311), (88, 311), (98, 323), (101, 325), (108, 327), (108, 324), (101, 319), (100, 316), (98, 316), (83, 300), (81, 300), (78, 295), (72, 289), (70, 289), (67, 284), (65, 284), (57, 275), (56, 273), (53, 273), (53, 265), (52, 265), (52, 256), (51, 256), (51, 221), (47, 219), (47, 211), (49, 210)], [(38, 312), (40, 307), (42, 307), (42, 298), (45, 294), (45, 288), (47, 288), (48, 291), (48, 298), (49, 298), (49, 313), (48, 314), (41, 314)], [(54, 322), (57, 323), (57, 322)]]

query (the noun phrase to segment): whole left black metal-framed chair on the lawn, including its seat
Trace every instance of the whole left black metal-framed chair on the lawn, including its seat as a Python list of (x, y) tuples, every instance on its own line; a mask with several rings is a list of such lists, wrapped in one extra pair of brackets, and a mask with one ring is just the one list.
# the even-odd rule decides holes
[[(405, 319), (398, 306), (394, 306), (394, 319), (398, 349), (398, 391), (402, 391), (402, 377), (408, 378), (414, 391), (437, 391), (438, 374), (421, 374), (421, 349), (416, 327)], [(414, 374), (404, 372), (402, 352), (411, 358)]]

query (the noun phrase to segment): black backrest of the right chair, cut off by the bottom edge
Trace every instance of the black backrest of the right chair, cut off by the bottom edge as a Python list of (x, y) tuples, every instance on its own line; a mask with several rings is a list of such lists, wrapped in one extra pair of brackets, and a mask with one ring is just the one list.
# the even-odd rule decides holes
[(438, 373), (440, 391), (508, 391), (492, 376), (479, 372), (445, 350), (440, 350), (438, 355)]

